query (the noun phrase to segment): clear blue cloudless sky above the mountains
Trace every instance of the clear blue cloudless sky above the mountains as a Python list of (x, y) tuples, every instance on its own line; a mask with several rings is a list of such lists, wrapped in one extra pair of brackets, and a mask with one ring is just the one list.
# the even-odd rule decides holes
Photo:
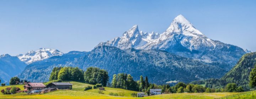
[(256, 51), (256, 0), (0, 0), (0, 54), (91, 51), (135, 24), (162, 33), (178, 14), (210, 39)]

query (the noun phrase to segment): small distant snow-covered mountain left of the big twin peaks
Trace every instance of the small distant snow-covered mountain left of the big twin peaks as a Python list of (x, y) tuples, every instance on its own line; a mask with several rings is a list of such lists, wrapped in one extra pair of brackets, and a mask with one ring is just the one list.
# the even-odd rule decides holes
[(37, 51), (29, 51), (26, 54), (20, 54), (17, 57), (27, 63), (27, 64), (31, 64), (33, 62), (37, 62), (39, 60), (43, 60), (49, 57), (53, 57), (53, 56), (62, 56), (63, 53), (60, 52), (59, 50), (55, 50), (52, 48), (46, 49), (46, 48), (40, 48)]

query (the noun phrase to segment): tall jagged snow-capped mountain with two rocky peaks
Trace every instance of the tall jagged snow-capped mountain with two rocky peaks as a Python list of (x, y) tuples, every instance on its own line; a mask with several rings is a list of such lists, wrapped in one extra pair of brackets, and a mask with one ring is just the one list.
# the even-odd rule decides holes
[(245, 54), (240, 47), (209, 39), (182, 15), (178, 15), (169, 28), (160, 35), (154, 32), (143, 33), (134, 25), (124, 32), (122, 37), (98, 44), (101, 45), (121, 49), (165, 50), (182, 57), (218, 65), (226, 70), (230, 70)]

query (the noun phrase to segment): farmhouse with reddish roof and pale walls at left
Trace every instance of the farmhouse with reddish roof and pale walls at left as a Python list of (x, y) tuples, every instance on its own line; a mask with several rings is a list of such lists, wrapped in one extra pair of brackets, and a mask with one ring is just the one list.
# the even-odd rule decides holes
[(24, 86), (24, 91), (31, 91), (31, 93), (40, 92), (42, 89), (46, 88), (43, 83), (28, 83)]

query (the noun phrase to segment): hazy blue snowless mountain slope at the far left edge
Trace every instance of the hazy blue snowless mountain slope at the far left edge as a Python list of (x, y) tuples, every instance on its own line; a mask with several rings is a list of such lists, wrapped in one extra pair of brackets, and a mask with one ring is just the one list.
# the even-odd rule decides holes
[(9, 54), (0, 55), (0, 79), (1, 83), (9, 82), (11, 77), (18, 75), (27, 64)]

